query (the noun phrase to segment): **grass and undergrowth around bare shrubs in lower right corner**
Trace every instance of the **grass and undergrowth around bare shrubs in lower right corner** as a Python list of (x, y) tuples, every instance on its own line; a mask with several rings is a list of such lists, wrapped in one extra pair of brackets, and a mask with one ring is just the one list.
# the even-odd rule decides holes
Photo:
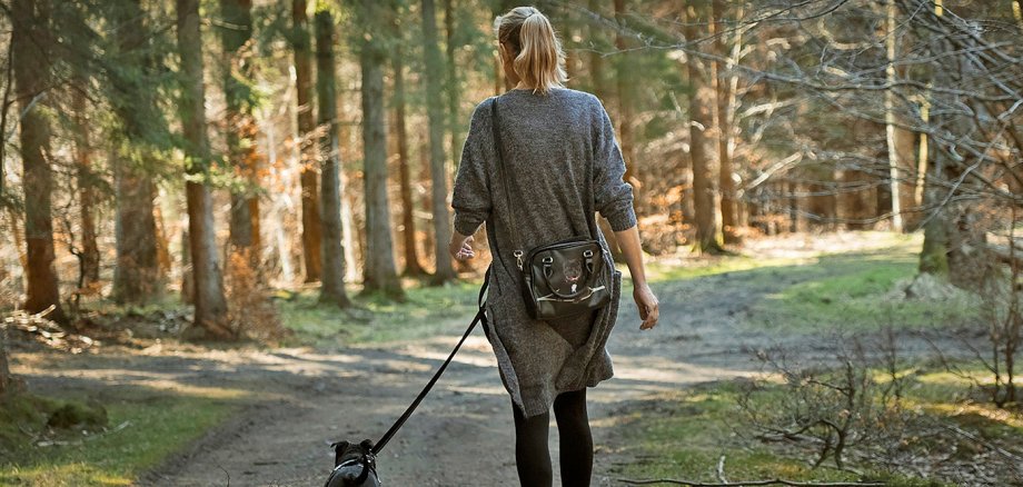
[[(984, 371), (975, 364), (973, 378)], [(875, 370), (884, 375), (883, 370)], [(703, 483), (783, 478), (798, 481), (884, 481), (888, 486), (938, 487), (956, 485), (1020, 485), (1019, 455), (1023, 437), (1020, 410), (1000, 409), (977, 400), (972, 381), (950, 375), (940, 365), (901, 370), (911, 379), (904, 385), (904, 413), (915, 424), (942, 428), (883, 431), (905, 439), (896, 450), (916, 460), (902, 468), (877, 468), (870, 448), (853, 449), (858, 461), (845, 469), (834, 463), (813, 467), (815, 456), (797, 441), (764, 441), (739, 406), (746, 381), (701, 385), (676, 394), (650, 397), (624, 413), (618, 425), (629, 431), (623, 441), (639, 461), (625, 466), (623, 479), (685, 479)], [(751, 405), (764, 414), (782, 414), (781, 385), (759, 390)], [(1001, 453), (999, 451), (1001, 450)], [(875, 459), (876, 460), (876, 459)], [(946, 480), (921, 479), (942, 477)]]

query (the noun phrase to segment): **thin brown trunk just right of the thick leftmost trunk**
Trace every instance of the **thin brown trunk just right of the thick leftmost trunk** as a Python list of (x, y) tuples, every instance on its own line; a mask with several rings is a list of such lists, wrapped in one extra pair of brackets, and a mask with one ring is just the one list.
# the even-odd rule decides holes
[(75, 119), (75, 162), (78, 171), (78, 209), (81, 219), (81, 269), (79, 269), (79, 287), (88, 289), (99, 284), (99, 246), (96, 244), (96, 189), (92, 173), (92, 147), (89, 137), (89, 117), (87, 116), (85, 85), (86, 79), (80, 79), (82, 88), (76, 90), (71, 100)]

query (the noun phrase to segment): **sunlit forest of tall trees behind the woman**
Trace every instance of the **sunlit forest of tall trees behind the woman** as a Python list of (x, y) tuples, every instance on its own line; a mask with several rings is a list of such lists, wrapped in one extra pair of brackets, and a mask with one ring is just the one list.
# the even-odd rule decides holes
[[(1017, 400), (1020, 0), (535, 4), (615, 122), (653, 260), (923, 233), (907, 292), (989, 299), (991, 398)], [(358, 319), (354, 294), (477, 279), (488, 256), (446, 251), (449, 192), (476, 103), (506, 89), (491, 22), (515, 6), (0, 2), (7, 322), (159, 305), (181, 338), (274, 344), (294, 292)]]

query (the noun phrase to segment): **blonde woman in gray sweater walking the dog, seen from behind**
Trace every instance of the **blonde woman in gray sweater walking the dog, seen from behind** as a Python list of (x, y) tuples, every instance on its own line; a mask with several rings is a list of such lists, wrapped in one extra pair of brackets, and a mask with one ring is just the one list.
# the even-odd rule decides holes
[[(596, 97), (564, 87), (562, 51), (554, 28), (533, 7), (519, 7), (495, 21), (506, 79), (514, 88), (480, 103), (473, 113), (451, 206), (455, 232), (449, 251), (475, 257), (473, 237), (487, 223), (494, 256), (487, 297), (490, 344), (515, 415), (515, 459), (523, 486), (552, 484), (547, 448), (549, 410), (560, 436), (562, 481), (588, 486), (593, 437), (586, 388), (612, 377), (607, 337), (618, 311), (622, 274), (612, 276), (610, 304), (598, 311), (540, 321), (529, 317), (519, 289), (522, 272), (512, 233), (524, 248), (592, 235), (594, 211), (608, 220), (633, 278), (640, 329), (657, 324), (657, 298), (646, 284), (632, 187), (622, 180), (625, 162), (607, 112)], [(498, 103), (505, 150), (498, 170), (490, 103)], [(510, 203), (506, 199), (507, 185)], [(514, 215), (510, 212), (514, 211)], [(604, 255), (607, 244), (599, 230)]]

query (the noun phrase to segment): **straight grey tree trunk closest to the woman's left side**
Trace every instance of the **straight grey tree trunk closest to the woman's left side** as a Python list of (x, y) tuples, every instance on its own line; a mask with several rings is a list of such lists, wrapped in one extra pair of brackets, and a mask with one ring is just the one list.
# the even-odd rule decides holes
[(437, 47), (437, 18), (434, 0), (423, 0), (423, 49), (426, 54), (426, 112), (430, 136), (430, 181), (433, 190), (434, 235), (437, 239), (433, 282), (443, 284), (455, 278), (451, 256), (445, 242), (451, 239), (451, 221), (447, 205), (447, 161), (444, 156), (444, 67)]

